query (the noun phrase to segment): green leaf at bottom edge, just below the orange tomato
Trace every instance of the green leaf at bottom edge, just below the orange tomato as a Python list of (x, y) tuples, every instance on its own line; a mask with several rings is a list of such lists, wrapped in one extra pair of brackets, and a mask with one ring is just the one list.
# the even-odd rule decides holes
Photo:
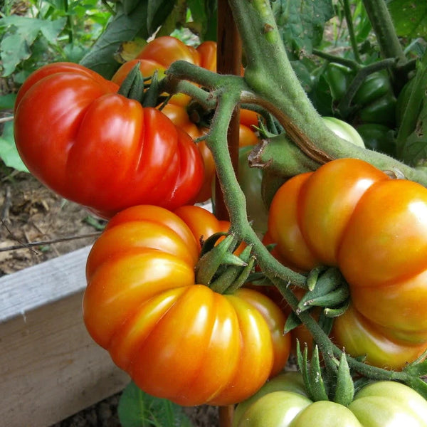
[(191, 427), (181, 406), (150, 396), (131, 382), (120, 397), (118, 414), (122, 427)]

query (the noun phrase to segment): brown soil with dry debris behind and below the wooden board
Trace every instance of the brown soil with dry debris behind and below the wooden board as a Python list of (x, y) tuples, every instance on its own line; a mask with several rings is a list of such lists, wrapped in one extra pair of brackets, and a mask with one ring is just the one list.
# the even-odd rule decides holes
[[(33, 176), (0, 162), (0, 277), (91, 245), (105, 226)], [(120, 427), (120, 393), (51, 427)], [(195, 427), (218, 426), (218, 409), (186, 408)]]

